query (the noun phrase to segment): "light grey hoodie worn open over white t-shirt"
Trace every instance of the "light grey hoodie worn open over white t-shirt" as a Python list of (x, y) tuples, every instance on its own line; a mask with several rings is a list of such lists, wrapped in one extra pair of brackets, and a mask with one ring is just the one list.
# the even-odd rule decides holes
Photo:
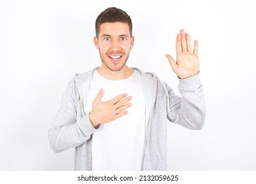
[[(199, 74), (179, 80), (182, 97), (152, 73), (138, 68), (145, 96), (146, 147), (143, 170), (167, 170), (167, 122), (189, 129), (202, 129), (205, 123), (205, 99)], [(68, 83), (61, 99), (61, 106), (49, 129), (48, 139), (55, 152), (75, 148), (75, 170), (91, 170), (91, 126), (84, 112), (83, 97), (88, 95), (91, 76), (95, 68), (76, 74)]]

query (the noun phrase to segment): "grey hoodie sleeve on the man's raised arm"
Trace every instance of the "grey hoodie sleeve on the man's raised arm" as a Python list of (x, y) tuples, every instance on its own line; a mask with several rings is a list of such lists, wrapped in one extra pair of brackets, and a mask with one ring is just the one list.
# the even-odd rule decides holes
[(199, 74), (179, 79), (178, 90), (182, 97), (176, 96), (168, 85), (167, 87), (170, 104), (168, 120), (189, 129), (202, 129), (205, 124), (205, 98)]

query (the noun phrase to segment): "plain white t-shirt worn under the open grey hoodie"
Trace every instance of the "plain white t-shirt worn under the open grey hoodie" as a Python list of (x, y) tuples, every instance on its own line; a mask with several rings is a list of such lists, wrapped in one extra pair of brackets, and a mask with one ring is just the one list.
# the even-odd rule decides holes
[(145, 99), (140, 72), (125, 80), (106, 80), (97, 70), (93, 73), (90, 94), (87, 97), (86, 113), (91, 112), (92, 103), (103, 89), (101, 101), (127, 93), (132, 96), (128, 114), (101, 124), (92, 137), (93, 170), (141, 170), (145, 152)]

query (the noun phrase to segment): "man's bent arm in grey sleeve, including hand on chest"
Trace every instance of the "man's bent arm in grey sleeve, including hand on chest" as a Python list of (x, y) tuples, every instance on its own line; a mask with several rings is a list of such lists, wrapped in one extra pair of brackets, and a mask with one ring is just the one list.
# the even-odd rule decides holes
[(78, 93), (74, 85), (74, 80), (70, 81), (61, 99), (61, 106), (53, 125), (48, 132), (48, 139), (51, 149), (61, 152), (72, 147), (78, 147), (90, 139), (95, 127), (99, 124), (107, 123), (120, 116), (126, 115), (126, 108), (132, 104), (128, 103), (132, 98), (126, 94), (118, 95), (111, 101), (101, 102), (103, 90), (100, 90), (90, 114), (77, 118)]

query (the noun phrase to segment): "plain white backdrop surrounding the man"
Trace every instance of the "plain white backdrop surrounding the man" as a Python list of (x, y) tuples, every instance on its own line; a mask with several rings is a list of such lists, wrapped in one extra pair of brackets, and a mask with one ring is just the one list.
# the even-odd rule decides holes
[(207, 118), (201, 131), (168, 125), (168, 170), (256, 170), (256, 3), (0, 1), (0, 170), (73, 170), (74, 149), (54, 153), (47, 131), (76, 73), (101, 64), (95, 18), (107, 7), (132, 18), (128, 66), (155, 72), (177, 94), (165, 58), (180, 29), (199, 40)]

